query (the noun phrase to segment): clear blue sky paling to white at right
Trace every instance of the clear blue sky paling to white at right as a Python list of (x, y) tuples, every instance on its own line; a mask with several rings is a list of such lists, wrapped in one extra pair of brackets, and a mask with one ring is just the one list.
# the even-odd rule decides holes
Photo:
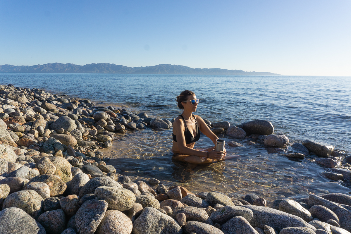
[(351, 1), (0, 0), (0, 65), (351, 75)]

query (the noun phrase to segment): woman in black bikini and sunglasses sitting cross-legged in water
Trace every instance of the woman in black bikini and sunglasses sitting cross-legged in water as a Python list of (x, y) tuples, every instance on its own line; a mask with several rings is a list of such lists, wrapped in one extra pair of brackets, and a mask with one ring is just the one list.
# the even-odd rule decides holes
[(192, 91), (185, 90), (177, 96), (179, 109), (184, 109), (173, 122), (173, 158), (190, 163), (210, 163), (222, 160), (226, 151), (214, 151), (214, 146), (208, 149), (194, 149), (195, 142), (200, 139), (200, 131), (216, 144), (218, 137), (208, 128), (198, 115), (193, 115), (199, 103)]

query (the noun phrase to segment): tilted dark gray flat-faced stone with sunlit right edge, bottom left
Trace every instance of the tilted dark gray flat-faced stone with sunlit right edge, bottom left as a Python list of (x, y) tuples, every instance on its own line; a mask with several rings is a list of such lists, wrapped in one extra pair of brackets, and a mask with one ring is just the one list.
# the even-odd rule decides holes
[(94, 234), (104, 218), (108, 204), (106, 201), (88, 200), (75, 214), (75, 227), (79, 233)]

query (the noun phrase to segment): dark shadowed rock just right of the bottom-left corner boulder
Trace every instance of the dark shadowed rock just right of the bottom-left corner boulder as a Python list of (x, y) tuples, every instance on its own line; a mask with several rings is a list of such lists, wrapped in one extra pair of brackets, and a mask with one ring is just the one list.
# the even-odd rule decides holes
[(47, 233), (60, 234), (66, 228), (65, 213), (61, 209), (51, 210), (42, 213), (38, 222), (45, 228)]

